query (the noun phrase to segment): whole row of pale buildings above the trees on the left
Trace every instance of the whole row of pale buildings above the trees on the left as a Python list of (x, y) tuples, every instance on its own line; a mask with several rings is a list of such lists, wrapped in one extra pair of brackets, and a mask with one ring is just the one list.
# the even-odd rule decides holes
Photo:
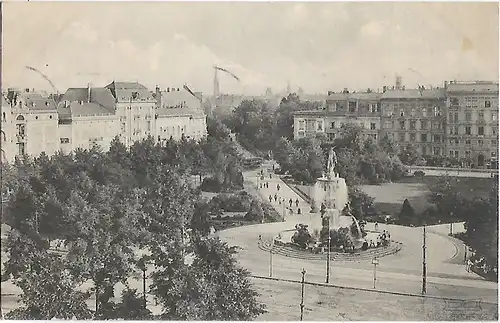
[(94, 146), (106, 151), (115, 137), (129, 147), (148, 136), (162, 142), (207, 135), (201, 93), (158, 92), (136, 82), (112, 82), (102, 88), (70, 88), (57, 96), (57, 103), (30, 90), (5, 92), (0, 157), (13, 162), (16, 156), (41, 152)]

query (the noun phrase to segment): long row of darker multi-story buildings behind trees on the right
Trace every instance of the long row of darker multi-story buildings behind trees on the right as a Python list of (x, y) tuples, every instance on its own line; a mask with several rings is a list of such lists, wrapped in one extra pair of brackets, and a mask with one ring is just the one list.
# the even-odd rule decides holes
[(344, 123), (356, 123), (366, 137), (388, 136), (400, 148), (446, 156), (473, 167), (498, 167), (498, 95), (493, 82), (445, 82), (442, 88), (382, 93), (329, 92), (320, 110), (294, 113), (294, 138), (338, 137)]

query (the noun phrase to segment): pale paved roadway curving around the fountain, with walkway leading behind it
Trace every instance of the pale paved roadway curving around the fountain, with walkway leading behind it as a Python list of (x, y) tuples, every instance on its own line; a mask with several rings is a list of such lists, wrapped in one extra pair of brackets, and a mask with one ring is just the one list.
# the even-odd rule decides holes
[[(270, 164), (264, 168), (271, 168)], [(257, 171), (244, 174), (247, 179), (256, 185), (261, 180), (257, 179)], [(310, 205), (291, 190), (281, 179), (272, 175), (265, 176), (264, 182), (269, 183), (269, 188), (258, 189), (261, 196), (266, 199), (269, 195), (278, 193), (279, 197), (288, 201), (290, 198), (299, 200), (299, 208), (309, 211)], [(277, 192), (276, 185), (280, 184)], [(283, 214), (283, 206), (272, 202), (276, 211)], [(293, 208), (296, 209), (295, 202)], [(319, 214), (304, 212), (303, 215), (285, 216), (285, 222), (246, 226), (233, 228), (219, 233), (219, 236), (231, 245), (242, 248), (239, 261), (253, 274), (268, 276), (270, 271), (270, 255), (260, 250), (257, 246), (259, 235), (263, 238), (272, 238), (280, 231), (292, 229), (296, 223), (312, 223)], [(372, 224), (369, 224), (372, 225)], [(458, 228), (459, 225), (457, 224)], [(371, 228), (373, 229), (373, 228)], [(422, 270), (422, 229), (379, 224), (379, 230), (389, 230), (391, 238), (402, 242), (403, 249), (397, 254), (380, 259), (377, 267), (377, 288), (399, 292), (420, 293)], [(443, 234), (446, 227), (430, 228), (427, 234), (427, 270), (428, 288), (431, 295), (463, 298), (482, 298), (496, 302), (496, 283), (483, 280), (473, 273), (467, 273), (463, 264), (450, 263), (460, 254), (463, 245), (457, 244)], [(443, 231), (443, 232), (442, 232)], [(304, 261), (279, 255), (273, 255), (273, 276), (300, 279), (300, 270), (305, 268), (310, 281), (324, 282), (326, 266), (320, 261)], [(332, 263), (331, 281), (334, 284), (371, 288), (373, 287), (373, 266), (370, 261), (337, 264)]]

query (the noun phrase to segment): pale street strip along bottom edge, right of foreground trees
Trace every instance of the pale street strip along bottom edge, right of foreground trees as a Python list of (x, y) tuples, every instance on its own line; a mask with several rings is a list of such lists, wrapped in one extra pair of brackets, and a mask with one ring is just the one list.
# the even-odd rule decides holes
[[(267, 313), (259, 321), (300, 320), (301, 285), (252, 279)], [(496, 321), (498, 305), (305, 285), (304, 321)]]

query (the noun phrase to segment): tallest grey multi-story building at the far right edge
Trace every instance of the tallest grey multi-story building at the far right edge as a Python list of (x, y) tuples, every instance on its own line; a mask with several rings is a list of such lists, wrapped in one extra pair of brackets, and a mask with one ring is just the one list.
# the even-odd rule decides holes
[(476, 167), (498, 167), (498, 83), (446, 85), (446, 150)]

